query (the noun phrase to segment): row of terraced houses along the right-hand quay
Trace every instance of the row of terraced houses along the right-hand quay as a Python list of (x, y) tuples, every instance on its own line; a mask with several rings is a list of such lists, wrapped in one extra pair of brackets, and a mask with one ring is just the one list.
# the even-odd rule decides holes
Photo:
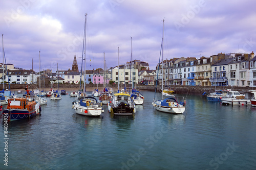
[[(254, 53), (220, 53), (210, 57), (174, 58), (156, 67), (159, 84), (188, 86), (256, 86)], [(159, 69), (158, 69), (159, 67)], [(163, 76), (163, 77), (162, 77)], [(149, 84), (149, 78), (143, 82)]]

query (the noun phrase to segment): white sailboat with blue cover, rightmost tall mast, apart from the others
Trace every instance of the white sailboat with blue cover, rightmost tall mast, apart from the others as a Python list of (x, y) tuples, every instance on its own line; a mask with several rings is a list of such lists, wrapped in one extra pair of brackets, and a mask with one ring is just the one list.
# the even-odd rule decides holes
[[(164, 29), (164, 20), (163, 20), (163, 29)], [(163, 37), (162, 37), (162, 70), (163, 70)], [(158, 82), (158, 73), (159, 73), (159, 67), (160, 67), (160, 58), (161, 58), (161, 52), (159, 57), (159, 63), (158, 63), (158, 71), (157, 71), (157, 82)], [(156, 82), (156, 89), (157, 89), (157, 82)], [(162, 100), (156, 100), (156, 89), (155, 89), (155, 97), (153, 99), (152, 105), (156, 108), (156, 110), (166, 113), (176, 113), (176, 114), (182, 114), (185, 111), (185, 104), (184, 102), (178, 102), (175, 98), (166, 98)], [(163, 71), (162, 71), (162, 89), (163, 89)]]

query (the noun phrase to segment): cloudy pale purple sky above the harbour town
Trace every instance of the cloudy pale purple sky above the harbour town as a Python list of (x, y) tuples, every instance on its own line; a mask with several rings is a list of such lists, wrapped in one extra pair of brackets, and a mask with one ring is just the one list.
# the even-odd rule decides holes
[(79, 69), (82, 56), (86, 69), (103, 68), (103, 57), (107, 68), (132, 57), (155, 69), (162, 37), (163, 59), (251, 53), (255, 5), (251, 0), (2, 1), (0, 58), (4, 44), (7, 63), (31, 69), (33, 59), (35, 71), (39, 63), (40, 70), (72, 69), (74, 55)]

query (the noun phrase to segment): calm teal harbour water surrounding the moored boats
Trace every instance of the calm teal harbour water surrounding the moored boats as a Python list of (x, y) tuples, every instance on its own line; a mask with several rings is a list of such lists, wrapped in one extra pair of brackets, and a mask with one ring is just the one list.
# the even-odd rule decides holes
[(0, 169), (256, 169), (256, 108), (186, 98), (184, 114), (156, 111), (154, 92), (136, 114), (111, 118), (75, 114), (69, 95), (42, 106), (40, 116), (4, 124)]

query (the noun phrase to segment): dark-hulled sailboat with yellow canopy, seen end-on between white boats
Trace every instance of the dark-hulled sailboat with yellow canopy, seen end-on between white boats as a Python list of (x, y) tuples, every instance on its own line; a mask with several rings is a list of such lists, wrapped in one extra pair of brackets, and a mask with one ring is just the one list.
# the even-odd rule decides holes
[[(131, 56), (131, 62), (132, 62), (132, 56)], [(118, 70), (119, 70), (119, 47), (118, 47)], [(119, 72), (118, 72), (118, 83), (119, 83)], [(130, 86), (131, 86), (131, 81), (130, 81)], [(111, 116), (133, 115), (136, 112), (135, 104), (131, 99), (130, 93), (128, 92), (126, 93), (123, 90), (119, 92), (119, 85), (118, 85), (118, 93), (115, 93), (113, 95), (113, 99), (108, 104), (108, 109), (111, 113)]]

